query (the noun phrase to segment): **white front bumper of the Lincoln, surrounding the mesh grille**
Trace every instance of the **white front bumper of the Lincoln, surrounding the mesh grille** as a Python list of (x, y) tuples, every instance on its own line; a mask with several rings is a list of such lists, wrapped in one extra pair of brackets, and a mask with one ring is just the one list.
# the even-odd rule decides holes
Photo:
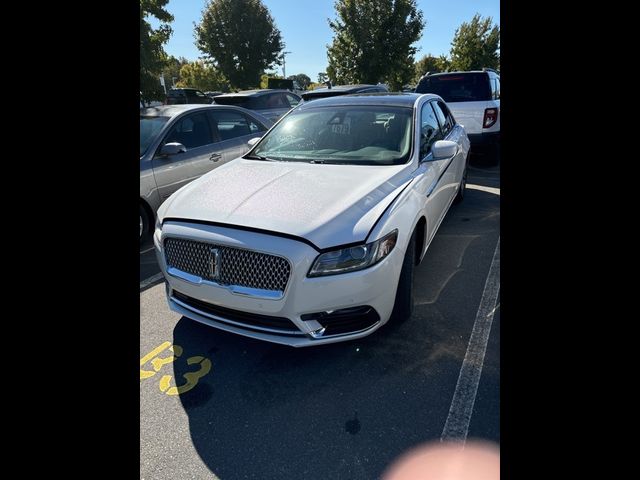
[[(162, 245), (169, 236), (287, 258), (292, 268), (284, 295), (279, 299), (239, 295), (215, 284), (195, 284), (168, 274)], [(167, 297), (172, 310), (221, 330), (294, 347), (357, 339), (380, 328), (391, 316), (404, 256), (396, 247), (382, 262), (368, 269), (307, 278), (318, 252), (289, 238), (232, 228), (165, 222), (162, 231), (155, 231), (154, 244), (158, 264), (167, 280)], [(331, 317), (331, 312), (343, 309), (349, 309), (342, 315), (343, 325), (352, 325), (354, 330), (323, 330), (327, 322), (336, 316)], [(246, 315), (243, 316), (243, 312)], [(348, 315), (352, 318), (345, 318)], [(272, 322), (275, 326), (265, 323), (273, 317), (277, 317)], [(366, 321), (360, 321), (365, 317)], [(290, 322), (288, 327), (285, 325), (287, 320)], [(365, 328), (360, 328), (362, 326)]]

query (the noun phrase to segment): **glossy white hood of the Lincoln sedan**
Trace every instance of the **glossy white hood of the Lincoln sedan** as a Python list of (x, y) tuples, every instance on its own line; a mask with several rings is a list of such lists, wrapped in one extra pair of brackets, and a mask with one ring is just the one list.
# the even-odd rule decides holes
[(365, 240), (411, 180), (411, 165), (323, 165), (239, 158), (174, 193), (158, 215), (305, 238), (318, 248)]

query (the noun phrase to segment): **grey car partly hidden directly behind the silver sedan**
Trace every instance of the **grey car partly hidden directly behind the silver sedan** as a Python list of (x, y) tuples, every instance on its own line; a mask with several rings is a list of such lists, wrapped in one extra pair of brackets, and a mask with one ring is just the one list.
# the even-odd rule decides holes
[(265, 117), (278, 120), (300, 103), (301, 98), (287, 90), (244, 90), (237, 93), (225, 93), (213, 99), (218, 105), (235, 105), (258, 112)]

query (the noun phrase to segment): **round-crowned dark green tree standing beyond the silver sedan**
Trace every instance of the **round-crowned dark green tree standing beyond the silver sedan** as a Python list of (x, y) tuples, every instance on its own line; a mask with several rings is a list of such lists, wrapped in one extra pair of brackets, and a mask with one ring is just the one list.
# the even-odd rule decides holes
[(284, 48), (280, 30), (260, 0), (210, 0), (195, 28), (198, 49), (234, 88), (255, 87)]

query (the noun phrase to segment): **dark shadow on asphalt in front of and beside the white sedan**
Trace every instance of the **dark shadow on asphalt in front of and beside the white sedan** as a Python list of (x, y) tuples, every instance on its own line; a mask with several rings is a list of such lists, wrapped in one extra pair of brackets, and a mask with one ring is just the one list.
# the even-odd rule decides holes
[[(176, 384), (198, 370), (185, 359), (211, 362), (179, 396), (209, 470), (224, 480), (379, 478), (409, 448), (439, 439), (498, 235), (499, 195), (469, 190), (416, 269), (416, 298), (427, 301), (360, 340), (295, 349), (181, 318)], [(482, 375), (499, 384), (499, 351), (487, 352)], [(482, 429), (496, 432), (497, 421), (475, 435), (496, 440)]]

